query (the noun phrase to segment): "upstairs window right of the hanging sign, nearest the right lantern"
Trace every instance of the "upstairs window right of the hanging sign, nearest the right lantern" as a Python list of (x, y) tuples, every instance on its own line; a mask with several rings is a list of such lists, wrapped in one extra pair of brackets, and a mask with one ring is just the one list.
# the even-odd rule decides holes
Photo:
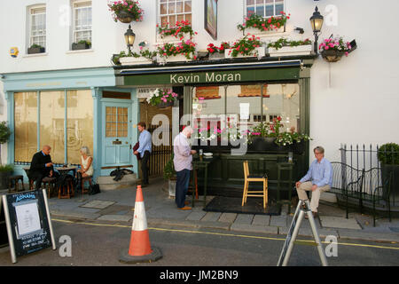
[(256, 13), (263, 18), (280, 16), (284, 0), (246, 0), (246, 16)]

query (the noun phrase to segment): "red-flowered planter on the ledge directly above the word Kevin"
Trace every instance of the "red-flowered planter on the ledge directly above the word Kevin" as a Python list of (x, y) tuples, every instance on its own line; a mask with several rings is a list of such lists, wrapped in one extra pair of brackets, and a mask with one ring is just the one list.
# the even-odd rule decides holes
[(179, 43), (163, 43), (158, 46), (157, 51), (160, 57), (159, 60), (172, 61), (187, 61), (197, 59), (195, 55), (195, 46), (192, 40), (181, 41)]

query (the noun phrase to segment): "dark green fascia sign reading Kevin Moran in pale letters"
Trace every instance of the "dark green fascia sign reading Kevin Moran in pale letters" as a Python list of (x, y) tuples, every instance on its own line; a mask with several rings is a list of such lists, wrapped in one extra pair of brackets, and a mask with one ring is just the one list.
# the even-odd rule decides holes
[(267, 80), (299, 79), (298, 67), (246, 69), (239, 71), (208, 71), (198, 73), (161, 73), (124, 75), (124, 85), (185, 85), (196, 83), (240, 83)]

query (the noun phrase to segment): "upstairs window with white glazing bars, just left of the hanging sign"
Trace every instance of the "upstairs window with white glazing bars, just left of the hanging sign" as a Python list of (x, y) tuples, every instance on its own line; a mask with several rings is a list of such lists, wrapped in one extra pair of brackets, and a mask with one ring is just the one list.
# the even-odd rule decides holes
[(192, 0), (160, 0), (160, 26), (170, 27), (176, 21), (186, 20), (192, 23)]

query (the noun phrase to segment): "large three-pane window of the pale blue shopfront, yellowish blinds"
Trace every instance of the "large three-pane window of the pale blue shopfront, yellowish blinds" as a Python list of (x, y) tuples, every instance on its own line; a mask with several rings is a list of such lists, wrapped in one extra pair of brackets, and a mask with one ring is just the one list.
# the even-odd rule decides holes
[(65, 91), (40, 91), (39, 99), (37, 93), (14, 94), (14, 161), (30, 162), (49, 145), (52, 162), (80, 163), (80, 148), (93, 147), (91, 91), (67, 91), (66, 98)]

